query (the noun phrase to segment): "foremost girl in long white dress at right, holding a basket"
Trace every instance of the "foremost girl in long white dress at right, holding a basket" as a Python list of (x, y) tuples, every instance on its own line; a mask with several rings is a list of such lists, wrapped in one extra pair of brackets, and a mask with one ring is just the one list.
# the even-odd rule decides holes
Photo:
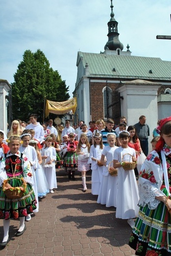
[(137, 217), (139, 212), (138, 186), (134, 169), (125, 171), (122, 166), (124, 162), (136, 161), (136, 152), (135, 149), (128, 147), (129, 132), (121, 132), (119, 141), (121, 147), (114, 152), (114, 168), (118, 168), (116, 218), (128, 219), (128, 224), (133, 228), (135, 223), (132, 218)]

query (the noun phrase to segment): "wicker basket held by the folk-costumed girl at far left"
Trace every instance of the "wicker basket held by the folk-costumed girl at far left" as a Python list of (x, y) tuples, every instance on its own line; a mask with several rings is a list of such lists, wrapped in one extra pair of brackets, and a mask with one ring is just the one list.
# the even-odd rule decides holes
[[(20, 187), (23, 187), (23, 190), (20, 190), (18, 187), (13, 187), (12, 189), (11, 188), (6, 189), (5, 185), (11, 179), (21, 180), (23, 184)], [(26, 191), (26, 187), (27, 187), (27, 183), (23, 178), (12, 177), (12, 178), (8, 178), (3, 182), (2, 190), (8, 199), (19, 199), (23, 196), (24, 192)]]

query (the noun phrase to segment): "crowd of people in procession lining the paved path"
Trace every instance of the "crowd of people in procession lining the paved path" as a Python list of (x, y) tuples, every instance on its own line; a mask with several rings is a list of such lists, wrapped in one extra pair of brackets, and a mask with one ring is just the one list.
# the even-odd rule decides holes
[[(90, 121), (89, 126), (82, 120), (73, 126), (66, 120), (65, 128), (53, 124), (50, 119), (41, 125), (31, 114), (28, 124), (12, 122), (6, 141), (0, 131), (0, 246), (9, 241), (11, 218), (20, 219), (16, 236), (24, 233), (25, 221), (38, 212), (38, 198), (57, 189), (56, 169), (63, 167), (68, 180), (81, 172), (83, 192), (91, 169), (91, 193), (97, 203), (116, 207), (115, 217), (133, 228), (129, 245), (136, 255), (171, 255), (171, 117), (158, 121), (151, 150), (144, 115), (131, 126), (122, 116), (115, 129), (113, 119)], [(146, 159), (138, 172), (142, 154)], [(13, 188), (23, 191), (22, 197), (7, 198)]]

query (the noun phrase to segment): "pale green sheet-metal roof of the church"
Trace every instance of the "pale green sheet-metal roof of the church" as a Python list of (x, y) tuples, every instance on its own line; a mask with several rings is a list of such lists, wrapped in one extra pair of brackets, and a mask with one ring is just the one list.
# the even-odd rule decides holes
[(89, 77), (171, 80), (171, 62), (160, 58), (78, 52), (77, 64), (80, 58)]

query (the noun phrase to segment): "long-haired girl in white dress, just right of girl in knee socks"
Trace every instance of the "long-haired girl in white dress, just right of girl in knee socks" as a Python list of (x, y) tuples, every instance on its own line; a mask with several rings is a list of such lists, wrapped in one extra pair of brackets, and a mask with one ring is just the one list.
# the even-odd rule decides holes
[(102, 134), (97, 132), (93, 135), (94, 144), (90, 148), (89, 160), (88, 163), (91, 163), (91, 193), (99, 194), (100, 183), (102, 181), (102, 166), (100, 159), (102, 156), (102, 151), (104, 149), (104, 145), (102, 142)]

